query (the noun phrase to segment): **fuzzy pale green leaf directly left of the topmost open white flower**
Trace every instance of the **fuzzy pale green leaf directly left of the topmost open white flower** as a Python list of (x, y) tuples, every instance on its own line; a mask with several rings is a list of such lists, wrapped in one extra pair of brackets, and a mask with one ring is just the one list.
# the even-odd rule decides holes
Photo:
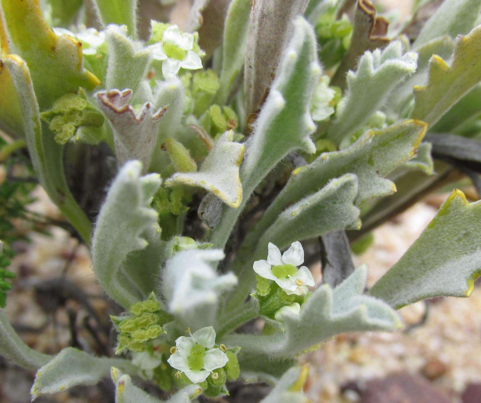
[(149, 67), (151, 52), (143, 48), (140, 42), (128, 38), (124, 26), (107, 26), (106, 39), (109, 59), (105, 87), (107, 90), (130, 88), (136, 100), (140, 82)]

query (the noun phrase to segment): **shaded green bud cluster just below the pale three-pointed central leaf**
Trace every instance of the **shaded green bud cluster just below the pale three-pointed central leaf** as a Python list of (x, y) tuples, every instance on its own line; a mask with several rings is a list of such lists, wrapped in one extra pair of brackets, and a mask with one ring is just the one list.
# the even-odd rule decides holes
[(190, 193), (180, 186), (165, 188), (161, 186), (152, 200), (152, 207), (159, 213), (159, 225), (162, 228), (161, 238), (171, 239), (177, 234), (177, 221), (189, 210), (187, 205), (192, 201)]

